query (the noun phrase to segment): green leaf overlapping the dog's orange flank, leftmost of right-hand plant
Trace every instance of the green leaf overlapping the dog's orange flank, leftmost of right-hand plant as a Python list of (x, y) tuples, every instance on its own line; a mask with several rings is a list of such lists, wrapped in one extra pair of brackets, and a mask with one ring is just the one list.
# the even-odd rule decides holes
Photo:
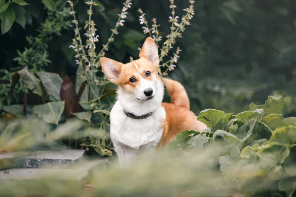
[(176, 149), (176, 148), (187, 148), (189, 144), (187, 142), (194, 136), (200, 134), (198, 131), (193, 131), (193, 130), (186, 130), (181, 132), (176, 136), (176, 139), (172, 141), (167, 148), (168, 149)]

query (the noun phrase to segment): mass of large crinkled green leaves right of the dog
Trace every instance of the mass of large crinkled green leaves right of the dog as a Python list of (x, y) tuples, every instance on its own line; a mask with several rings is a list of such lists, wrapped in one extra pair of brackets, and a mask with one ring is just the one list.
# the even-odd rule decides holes
[[(214, 145), (220, 155), (213, 158), (212, 169), (220, 165), (229, 187), (250, 196), (266, 192), (282, 196), (285, 192), (292, 197), (296, 190), (296, 122), (294, 117), (282, 116), (289, 104), (285, 97), (269, 96), (264, 104), (251, 103), (248, 111), (237, 115), (203, 110), (197, 120), (209, 128), (181, 132), (168, 149), (206, 150)], [(256, 167), (248, 171), (248, 165)]]

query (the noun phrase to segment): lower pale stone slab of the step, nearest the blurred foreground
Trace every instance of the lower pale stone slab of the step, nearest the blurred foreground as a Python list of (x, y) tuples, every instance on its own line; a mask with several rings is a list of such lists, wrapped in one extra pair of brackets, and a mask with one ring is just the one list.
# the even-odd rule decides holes
[(105, 166), (109, 159), (99, 159), (73, 165), (72, 168), (11, 168), (0, 170), (0, 180), (35, 180), (53, 178), (58, 180), (82, 181), (88, 176), (88, 171), (96, 166)]

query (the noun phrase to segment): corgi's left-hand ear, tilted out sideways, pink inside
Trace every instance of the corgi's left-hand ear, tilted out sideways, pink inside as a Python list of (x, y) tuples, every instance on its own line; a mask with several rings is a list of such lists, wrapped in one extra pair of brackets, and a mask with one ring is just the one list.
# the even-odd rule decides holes
[(119, 78), (120, 70), (123, 64), (116, 62), (114, 60), (111, 60), (109, 58), (101, 58), (100, 63), (102, 66), (102, 70), (106, 75), (107, 79), (111, 83), (115, 83), (116, 85), (118, 85), (119, 83), (118, 78)]

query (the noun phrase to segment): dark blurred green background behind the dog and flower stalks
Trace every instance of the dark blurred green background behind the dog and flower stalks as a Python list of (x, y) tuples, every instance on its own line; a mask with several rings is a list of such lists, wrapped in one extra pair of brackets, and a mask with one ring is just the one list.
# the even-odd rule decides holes
[[(57, 9), (68, 7), (66, 1), (58, 1)], [(2, 31), (0, 35), (0, 69), (11, 71), (20, 66), (13, 61), (18, 57), (17, 50), (23, 52), (28, 47), (26, 36), (36, 36), (38, 28), (48, 17), (41, 0), (26, 2), (29, 5), (12, 6), (16, 15), (21, 14), (25, 18), (25, 23), (24, 20), (15, 21), (7, 33)], [(96, 23), (100, 43), (107, 43), (123, 1), (96, 2), (98, 6), (94, 8), (92, 19)], [(188, 6), (188, 2), (175, 0), (175, 4), (176, 15), (181, 18), (184, 14), (182, 9)], [(160, 34), (170, 31), (169, 0), (133, 0), (126, 24), (119, 28), (120, 33), (115, 36), (107, 57), (123, 63), (128, 62), (131, 56), (134, 59), (138, 57), (137, 48), (142, 46), (147, 36), (142, 33), (142, 25), (138, 21), (138, 8), (147, 13), (149, 25), (153, 17), (157, 18), (161, 25)], [(88, 6), (79, 0), (74, 9), (79, 25), (83, 27), (88, 18)], [(65, 17), (64, 22), (67, 20), (72, 18)], [(49, 29), (52, 26), (47, 25)], [(59, 73), (62, 78), (66, 75), (74, 78), (77, 67), (74, 51), (69, 48), (74, 32), (73, 28), (62, 25), (65, 28), (60, 35), (53, 29), (49, 36), (52, 39), (47, 43), (47, 59), (51, 63), (44, 69)], [(262, 104), (267, 95), (275, 92), (295, 98), (295, 30), (296, 1), (293, 0), (197, 0), (191, 26), (186, 28), (183, 38), (177, 40), (176, 46), (182, 49), (181, 58), (169, 77), (184, 84), (191, 108), (197, 114), (206, 108), (241, 112), (248, 109), (250, 102)], [(286, 116), (296, 116), (295, 104), (286, 110)]]

